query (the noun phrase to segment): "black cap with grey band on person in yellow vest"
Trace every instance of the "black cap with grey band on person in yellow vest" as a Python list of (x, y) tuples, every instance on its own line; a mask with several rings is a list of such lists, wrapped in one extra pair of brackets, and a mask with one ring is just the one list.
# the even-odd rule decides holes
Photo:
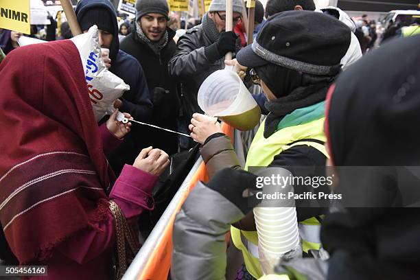
[(331, 16), (312, 11), (287, 11), (271, 16), (252, 45), (237, 54), (246, 67), (272, 63), (313, 75), (340, 71), (351, 30)]

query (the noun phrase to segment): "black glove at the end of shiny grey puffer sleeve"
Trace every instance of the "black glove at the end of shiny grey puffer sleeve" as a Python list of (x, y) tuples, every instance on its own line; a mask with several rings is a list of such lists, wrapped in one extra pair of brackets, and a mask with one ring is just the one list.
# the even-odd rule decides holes
[[(256, 183), (257, 176), (255, 174), (244, 170), (225, 168), (211, 178), (207, 187), (224, 196), (246, 215), (261, 202), (255, 197)], [(254, 194), (250, 196), (249, 192), (245, 191), (246, 189), (253, 191)], [(244, 191), (248, 197), (244, 197)]]

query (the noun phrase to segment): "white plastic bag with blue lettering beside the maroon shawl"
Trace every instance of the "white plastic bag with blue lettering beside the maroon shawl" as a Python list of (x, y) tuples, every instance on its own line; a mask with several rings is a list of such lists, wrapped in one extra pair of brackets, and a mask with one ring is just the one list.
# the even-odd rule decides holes
[(97, 26), (71, 38), (79, 50), (88, 86), (88, 94), (96, 121), (100, 121), (107, 111), (113, 110), (113, 103), (128, 91), (130, 86), (117, 75), (108, 71), (101, 56)]

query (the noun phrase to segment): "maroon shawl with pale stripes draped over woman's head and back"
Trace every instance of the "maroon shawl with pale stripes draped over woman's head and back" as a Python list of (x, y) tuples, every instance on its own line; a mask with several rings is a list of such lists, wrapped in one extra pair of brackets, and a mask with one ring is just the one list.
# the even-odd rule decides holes
[(114, 178), (70, 40), (16, 49), (0, 85), (0, 220), (25, 264), (104, 219)]

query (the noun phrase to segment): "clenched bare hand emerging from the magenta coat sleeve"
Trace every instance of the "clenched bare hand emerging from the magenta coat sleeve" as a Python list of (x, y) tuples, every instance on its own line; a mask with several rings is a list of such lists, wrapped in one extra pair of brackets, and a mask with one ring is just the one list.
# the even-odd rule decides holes
[(169, 163), (167, 153), (163, 152), (163, 150), (149, 147), (141, 150), (132, 166), (154, 176), (160, 176)]

